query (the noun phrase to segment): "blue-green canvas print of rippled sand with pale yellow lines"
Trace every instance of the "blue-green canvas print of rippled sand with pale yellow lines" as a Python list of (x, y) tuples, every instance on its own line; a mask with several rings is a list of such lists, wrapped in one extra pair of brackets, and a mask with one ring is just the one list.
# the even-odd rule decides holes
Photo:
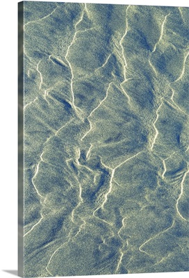
[(189, 270), (188, 20), (19, 3), (20, 276)]

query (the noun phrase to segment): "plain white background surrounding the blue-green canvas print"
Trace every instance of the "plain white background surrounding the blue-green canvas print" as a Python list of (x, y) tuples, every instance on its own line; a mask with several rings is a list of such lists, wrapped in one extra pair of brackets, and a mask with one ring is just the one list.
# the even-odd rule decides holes
[[(64, 0), (67, 2), (67, 0)], [(84, 2), (72, 1), (69, 2)], [(108, 0), (88, 3), (124, 3), (155, 6), (189, 6), (187, 0)], [(0, 146), (1, 146), (1, 251), (0, 277), (14, 277), (17, 270), (17, 0), (1, 1)], [(189, 256), (189, 254), (188, 254)], [(6, 272), (6, 271), (9, 272)], [(12, 270), (12, 273), (10, 273)], [(94, 276), (93, 276), (94, 277)], [(118, 277), (115, 275), (101, 275)], [(188, 272), (122, 275), (131, 278), (188, 277)], [(94, 277), (95, 278), (95, 277)], [(99, 277), (98, 277), (99, 278)]]

